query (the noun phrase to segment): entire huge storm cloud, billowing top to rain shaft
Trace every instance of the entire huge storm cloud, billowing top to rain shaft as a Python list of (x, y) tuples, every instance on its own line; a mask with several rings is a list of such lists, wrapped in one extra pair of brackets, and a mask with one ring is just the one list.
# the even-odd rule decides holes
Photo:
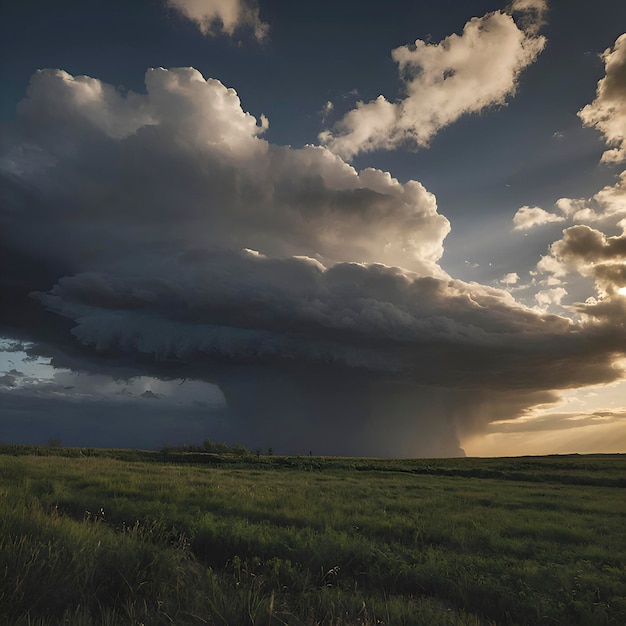
[[(0, 155), (3, 331), (56, 368), (218, 385), (239, 439), (285, 452), (458, 455), (554, 389), (623, 375), (617, 318), (453, 279), (420, 183), (266, 126), (191, 68), (149, 70), (145, 94), (35, 74)], [(87, 393), (62, 387), (55, 406)]]

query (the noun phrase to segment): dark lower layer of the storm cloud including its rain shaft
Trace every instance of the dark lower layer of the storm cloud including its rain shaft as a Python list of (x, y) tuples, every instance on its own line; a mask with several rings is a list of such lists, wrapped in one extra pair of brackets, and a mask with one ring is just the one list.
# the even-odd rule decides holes
[(64, 278), (42, 301), (103, 358), (217, 383), (254, 444), (290, 451), (455, 455), (459, 433), (546, 388), (620, 376), (614, 332), (384, 266), (194, 254)]

